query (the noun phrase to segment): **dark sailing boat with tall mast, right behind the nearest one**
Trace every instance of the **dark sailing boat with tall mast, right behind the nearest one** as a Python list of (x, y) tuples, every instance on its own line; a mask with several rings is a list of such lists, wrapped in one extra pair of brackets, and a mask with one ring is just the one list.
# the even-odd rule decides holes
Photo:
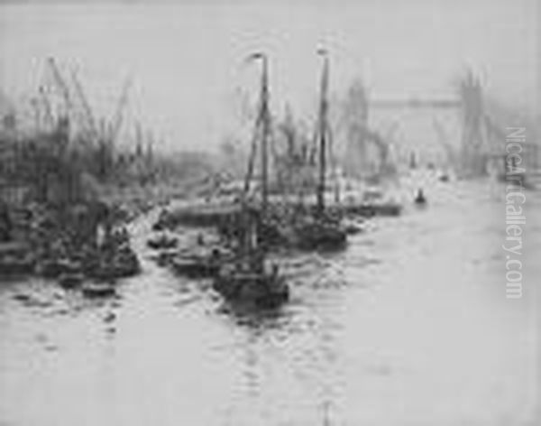
[(318, 182), (316, 186), (316, 211), (302, 216), (294, 225), (295, 245), (300, 249), (337, 249), (347, 242), (346, 233), (338, 220), (331, 218), (326, 209), (326, 155), (330, 126), (328, 123), (328, 81), (329, 60), (327, 52), (318, 51), (323, 56), (319, 113), (317, 123), (318, 142)]

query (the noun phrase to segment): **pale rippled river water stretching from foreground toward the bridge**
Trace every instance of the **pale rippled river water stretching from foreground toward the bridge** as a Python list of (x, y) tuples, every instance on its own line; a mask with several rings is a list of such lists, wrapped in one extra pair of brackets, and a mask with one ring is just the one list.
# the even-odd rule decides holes
[(282, 259), (292, 301), (260, 318), (147, 260), (115, 300), (3, 282), (0, 424), (534, 424), (541, 194), (510, 300), (504, 187), (422, 179), (427, 208)]

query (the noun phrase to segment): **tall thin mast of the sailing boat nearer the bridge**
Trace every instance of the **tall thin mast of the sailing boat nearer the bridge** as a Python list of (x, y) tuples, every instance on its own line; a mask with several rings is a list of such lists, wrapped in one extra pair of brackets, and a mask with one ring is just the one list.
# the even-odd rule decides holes
[(323, 213), (325, 210), (325, 187), (326, 187), (326, 134), (327, 134), (327, 111), (328, 99), (327, 89), (329, 85), (329, 59), (327, 51), (319, 50), (317, 54), (323, 56), (323, 73), (321, 75), (321, 88), (319, 100), (319, 181), (317, 184), (317, 211)]

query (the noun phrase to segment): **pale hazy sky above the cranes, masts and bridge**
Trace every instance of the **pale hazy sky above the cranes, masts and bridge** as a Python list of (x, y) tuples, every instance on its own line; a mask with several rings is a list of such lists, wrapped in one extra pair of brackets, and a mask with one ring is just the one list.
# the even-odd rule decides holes
[(312, 114), (320, 45), (335, 92), (362, 77), (374, 97), (452, 96), (470, 66), (491, 92), (532, 105), (535, 9), (536, 0), (0, 5), (0, 84), (14, 98), (35, 93), (53, 56), (78, 69), (91, 104), (111, 114), (130, 75), (130, 116), (183, 147), (233, 131), (240, 93), (257, 88), (257, 66), (243, 62), (252, 51), (271, 57), (278, 111), (290, 102)]

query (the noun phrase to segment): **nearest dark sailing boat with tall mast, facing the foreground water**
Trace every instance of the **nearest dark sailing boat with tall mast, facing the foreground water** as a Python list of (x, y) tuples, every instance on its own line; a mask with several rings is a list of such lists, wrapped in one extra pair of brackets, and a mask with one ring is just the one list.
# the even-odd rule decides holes
[[(227, 301), (251, 305), (256, 308), (275, 308), (289, 300), (289, 286), (280, 275), (277, 264), (268, 267), (266, 250), (261, 245), (261, 223), (268, 207), (268, 143), (270, 133), (269, 88), (267, 57), (262, 53), (251, 56), (262, 61), (261, 109), (257, 125), (261, 123), (261, 206), (250, 206), (248, 192), (253, 169), (253, 156), (257, 144), (252, 144), (243, 199), (241, 200), (241, 227), (234, 261), (223, 264), (215, 277), (213, 288)], [(256, 139), (254, 138), (254, 142)]]

